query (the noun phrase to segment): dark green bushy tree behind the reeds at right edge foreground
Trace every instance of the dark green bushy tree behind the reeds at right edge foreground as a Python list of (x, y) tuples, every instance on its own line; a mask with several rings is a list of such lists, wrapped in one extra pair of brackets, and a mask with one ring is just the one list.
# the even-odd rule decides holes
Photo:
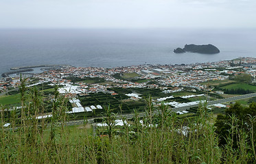
[(252, 102), (249, 107), (242, 107), (240, 103), (235, 102), (226, 109), (224, 115), (218, 115), (214, 125), (220, 146), (229, 147), (233, 152), (246, 149), (246, 152), (251, 154), (249, 163), (255, 163), (256, 102)]

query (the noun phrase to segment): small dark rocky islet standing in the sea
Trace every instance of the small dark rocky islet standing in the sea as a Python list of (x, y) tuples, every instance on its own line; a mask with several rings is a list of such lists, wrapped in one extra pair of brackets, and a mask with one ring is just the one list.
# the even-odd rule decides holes
[(213, 46), (212, 44), (196, 45), (196, 44), (186, 44), (183, 49), (174, 49), (174, 53), (204, 53), (204, 54), (216, 54), (220, 53), (220, 50)]

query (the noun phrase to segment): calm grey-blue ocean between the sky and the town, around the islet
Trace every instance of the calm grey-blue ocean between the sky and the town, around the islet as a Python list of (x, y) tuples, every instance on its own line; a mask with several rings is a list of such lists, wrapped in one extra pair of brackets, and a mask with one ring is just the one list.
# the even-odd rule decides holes
[[(220, 53), (173, 53), (185, 44), (213, 44)], [(256, 57), (255, 45), (256, 29), (0, 29), (0, 74), (41, 64), (113, 68)]]

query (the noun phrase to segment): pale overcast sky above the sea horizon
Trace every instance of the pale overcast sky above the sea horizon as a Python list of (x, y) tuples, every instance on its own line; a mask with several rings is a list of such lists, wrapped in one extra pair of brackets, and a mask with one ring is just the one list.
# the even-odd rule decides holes
[(0, 28), (256, 28), (255, 0), (0, 0)]

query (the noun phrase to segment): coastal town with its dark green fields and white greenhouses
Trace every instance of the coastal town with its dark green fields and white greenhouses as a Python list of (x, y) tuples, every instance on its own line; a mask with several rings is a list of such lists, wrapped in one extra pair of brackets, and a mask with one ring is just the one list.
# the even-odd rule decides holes
[[(199, 100), (205, 99), (202, 96), (208, 96), (209, 100), (216, 100), (221, 98), (220, 95), (224, 94), (224, 90), (216, 85), (210, 85), (209, 81), (232, 81), (238, 74), (249, 74), (252, 79), (255, 79), (255, 68), (255, 58), (240, 57), (202, 64), (144, 64), (117, 68), (58, 66), (52, 69), (44, 68), (45, 71), (41, 73), (25, 73), (22, 77), (27, 78), (27, 87), (50, 88), (48, 91), (51, 90), (51, 92), (46, 92), (48, 96), (52, 96), (52, 88), (59, 85), (58, 92), (67, 96), (71, 103), (68, 113), (95, 109), (102, 111), (108, 103), (114, 104), (115, 108), (123, 104), (129, 112), (132, 107), (139, 108), (141, 105), (138, 104), (139, 102), (145, 105), (142, 99), (149, 95), (152, 95), (154, 104), (169, 100), (167, 104), (171, 107), (179, 107), (178, 104), (180, 106), (189, 105), (189, 103), (198, 104)], [(21, 74), (2, 78), (1, 95), (19, 93), (20, 78)], [(178, 93), (184, 93), (180, 94), (182, 100), (176, 102), (175, 93), (177, 96)], [(108, 98), (110, 98), (109, 101)], [(185, 100), (187, 98), (190, 100)], [(128, 105), (131, 102), (134, 106)], [(19, 105), (19, 103), (14, 104)], [(143, 111), (142, 108), (141, 111)]]

